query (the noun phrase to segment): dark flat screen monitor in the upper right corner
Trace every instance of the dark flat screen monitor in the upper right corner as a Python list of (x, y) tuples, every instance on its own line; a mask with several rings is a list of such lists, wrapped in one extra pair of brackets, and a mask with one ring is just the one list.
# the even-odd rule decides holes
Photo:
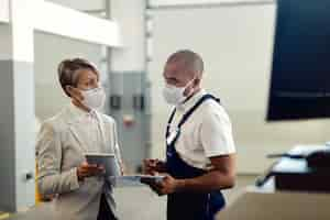
[(278, 0), (267, 120), (330, 117), (330, 0)]

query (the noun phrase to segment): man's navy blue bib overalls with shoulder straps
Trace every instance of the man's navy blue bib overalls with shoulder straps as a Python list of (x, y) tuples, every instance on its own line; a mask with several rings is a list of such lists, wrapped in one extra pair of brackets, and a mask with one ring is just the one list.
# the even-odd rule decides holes
[[(175, 132), (169, 132), (176, 109), (172, 112), (166, 129), (166, 168), (174, 178), (195, 178), (207, 172), (193, 167), (184, 162), (175, 150), (175, 143), (180, 135), (180, 129), (194, 111), (206, 100), (220, 100), (211, 95), (202, 96), (196, 105), (182, 118)], [(211, 193), (183, 191), (168, 195), (167, 220), (213, 220), (215, 215), (224, 207), (224, 198), (220, 190)]]

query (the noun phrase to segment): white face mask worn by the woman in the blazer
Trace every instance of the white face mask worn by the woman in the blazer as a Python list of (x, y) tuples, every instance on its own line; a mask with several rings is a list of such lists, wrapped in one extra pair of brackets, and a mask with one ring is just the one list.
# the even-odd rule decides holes
[(102, 87), (81, 90), (81, 94), (84, 96), (82, 103), (86, 107), (95, 110), (100, 110), (101, 108), (103, 108), (106, 102), (106, 92)]

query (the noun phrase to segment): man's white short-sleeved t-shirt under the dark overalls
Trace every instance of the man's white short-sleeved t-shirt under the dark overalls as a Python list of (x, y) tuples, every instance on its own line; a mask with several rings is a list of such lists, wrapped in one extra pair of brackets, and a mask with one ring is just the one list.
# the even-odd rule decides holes
[[(201, 89), (186, 102), (177, 106), (169, 131), (173, 132), (183, 116), (207, 92)], [(235, 153), (232, 127), (224, 108), (212, 99), (202, 102), (182, 125), (175, 148), (190, 166), (206, 169), (213, 156)]]

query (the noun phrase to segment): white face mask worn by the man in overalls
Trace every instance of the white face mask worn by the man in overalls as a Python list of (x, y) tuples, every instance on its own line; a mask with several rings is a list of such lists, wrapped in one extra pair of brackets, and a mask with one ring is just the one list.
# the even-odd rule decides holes
[(179, 103), (184, 102), (185, 99), (187, 98), (184, 95), (184, 92), (191, 81), (194, 81), (194, 79), (191, 79), (184, 87), (176, 87), (176, 86), (166, 84), (165, 87), (163, 88), (163, 97), (164, 97), (165, 101), (173, 106), (178, 106)]

